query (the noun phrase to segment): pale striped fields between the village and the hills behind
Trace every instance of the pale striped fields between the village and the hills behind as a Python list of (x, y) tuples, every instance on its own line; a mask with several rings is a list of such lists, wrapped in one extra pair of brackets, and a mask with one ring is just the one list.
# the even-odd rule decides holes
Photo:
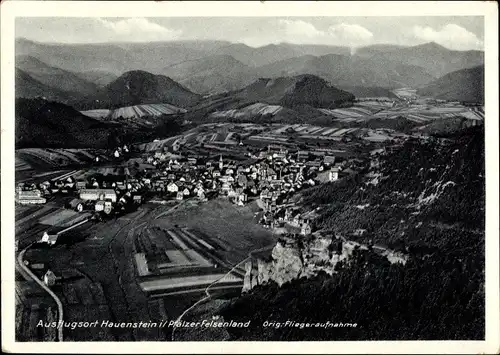
[[(413, 95), (410, 89), (402, 89), (399, 95)], [(255, 110), (278, 110), (270, 105), (254, 104), (243, 109), (216, 112), (213, 115), (236, 117), (243, 115), (249, 107)], [(300, 124), (254, 124), (254, 123), (209, 123), (200, 125), (183, 135), (170, 137), (156, 142), (138, 145), (140, 151), (154, 152), (174, 146), (203, 148), (215, 151), (233, 151), (240, 149), (238, 143), (263, 147), (278, 143), (294, 146), (297, 139), (303, 142), (341, 141), (344, 137), (358, 137), (367, 141), (381, 141), (389, 138), (377, 129), (387, 128), (397, 132), (411, 134), (418, 132), (419, 126), (425, 126), (443, 119), (463, 119), (480, 123), (484, 120), (483, 107), (466, 107), (459, 103), (437, 103), (432, 100), (400, 102), (384, 100), (363, 100), (354, 106), (337, 109), (319, 109), (331, 123), (325, 126)], [(276, 111), (279, 112), (279, 111)], [(473, 124), (475, 124), (473, 123)], [(382, 138), (385, 135), (386, 138)], [(217, 153), (217, 152), (216, 152)]]

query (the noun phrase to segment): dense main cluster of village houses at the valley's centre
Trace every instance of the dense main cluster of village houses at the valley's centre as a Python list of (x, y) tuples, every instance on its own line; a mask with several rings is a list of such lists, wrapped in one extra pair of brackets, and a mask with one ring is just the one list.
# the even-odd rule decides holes
[(146, 161), (156, 167), (149, 181), (152, 189), (177, 200), (206, 200), (207, 193), (215, 192), (237, 205), (260, 198), (265, 208), (272, 210), (280, 199), (304, 187), (339, 178), (342, 162), (334, 156), (314, 157), (309, 153), (290, 153), (270, 145), (245, 161), (224, 160), (222, 155), (208, 161), (195, 157), (169, 159), (161, 152), (146, 157)]

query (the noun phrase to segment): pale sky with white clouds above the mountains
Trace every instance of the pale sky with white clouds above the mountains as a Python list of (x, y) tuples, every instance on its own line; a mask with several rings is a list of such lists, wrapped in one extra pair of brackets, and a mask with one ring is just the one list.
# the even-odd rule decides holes
[(252, 47), (282, 42), (351, 48), (436, 42), (455, 50), (484, 50), (484, 20), (478, 16), (30, 17), (16, 19), (16, 37), (57, 43), (225, 40)]

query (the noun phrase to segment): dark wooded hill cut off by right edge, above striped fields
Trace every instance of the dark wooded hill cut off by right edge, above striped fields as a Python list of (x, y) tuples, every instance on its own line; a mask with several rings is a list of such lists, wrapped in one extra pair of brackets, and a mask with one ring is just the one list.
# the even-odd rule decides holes
[(418, 90), (418, 94), (443, 100), (484, 103), (484, 66), (449, 73)]

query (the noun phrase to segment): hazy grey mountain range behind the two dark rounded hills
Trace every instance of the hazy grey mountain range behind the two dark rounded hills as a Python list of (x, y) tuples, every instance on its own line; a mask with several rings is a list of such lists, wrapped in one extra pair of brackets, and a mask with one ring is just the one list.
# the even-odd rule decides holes
[[(238, 90), (261, 77), (302, 74), (319, 76), (341, 89), (421, 87), (484, 61), (481, 51), (453, 51), (435, 43), (373, 45), (351, 55), (347, 47), (286, 43), (253, 48), (224, 41), (46, 44), (18, 39), (16, 55), (16, 66), (34, 79), (85, 95), (91, 91), (89, 83), (102, 88), (136, 70), (165, 75), (207, 95)], [(35, 60), (44, 69), (37, 68)], [(47, 78), (64, 72), (69, 73), (60, 83)], [(73, 82), (77, 85), (71, 86)]]

